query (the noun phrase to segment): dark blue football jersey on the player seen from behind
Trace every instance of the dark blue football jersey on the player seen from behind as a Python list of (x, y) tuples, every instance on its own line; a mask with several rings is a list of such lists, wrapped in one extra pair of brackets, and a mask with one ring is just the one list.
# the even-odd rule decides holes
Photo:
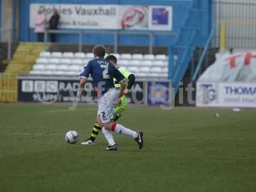
[(113, 65), (113, 63), (104, 60), (104, 58), (95, 58), (90, 60), (84, 67), (83, 72), (79, 74), (79, 78), (88, 78), (91, 74), (93, 86), (99, 88), (102, 95), (110, 88), (115, 88), (113, 78), (118, 82), (125, 81), (125, 77)]

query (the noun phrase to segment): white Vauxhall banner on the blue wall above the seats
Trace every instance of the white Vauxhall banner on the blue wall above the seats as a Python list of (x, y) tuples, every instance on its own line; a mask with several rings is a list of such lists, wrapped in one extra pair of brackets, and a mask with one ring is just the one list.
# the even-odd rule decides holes
[(62, 29), (172, 30), (172, 6), (119, 4), (31, 3), (30, 28), (34, 28), (38, 12), (43, 11), (49, 20), (53, 10), (60, 13)]

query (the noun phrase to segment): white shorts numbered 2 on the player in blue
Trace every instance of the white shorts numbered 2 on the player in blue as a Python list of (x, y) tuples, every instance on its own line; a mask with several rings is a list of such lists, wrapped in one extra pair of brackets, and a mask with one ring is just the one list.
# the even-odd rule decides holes
[(102, 123), (111, 122), (111, 119), (114, 115), (114, 106), (115, 100), (117, 98), (117, 92), (115, 88), (111, 88), (106, 92), (100, 99), (99, 102), (99, 109), (98, 109), (98, 116), (100, 116)]

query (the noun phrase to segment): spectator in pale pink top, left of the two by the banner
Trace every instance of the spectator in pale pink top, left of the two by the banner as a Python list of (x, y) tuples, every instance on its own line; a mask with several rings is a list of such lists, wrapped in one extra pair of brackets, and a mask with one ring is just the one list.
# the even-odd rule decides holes
[(35, 33), (37, 35), (38, 42), (44, 42), (44, 31), (45, 31), (46, 16), (43, 10), (38, 11), (35, 19)]

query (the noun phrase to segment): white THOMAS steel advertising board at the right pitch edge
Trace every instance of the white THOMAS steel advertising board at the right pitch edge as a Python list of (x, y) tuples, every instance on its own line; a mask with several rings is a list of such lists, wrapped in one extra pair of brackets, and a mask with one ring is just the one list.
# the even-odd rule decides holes
[(196, 106), (256, 108), (256, 83), (196, 83)]

